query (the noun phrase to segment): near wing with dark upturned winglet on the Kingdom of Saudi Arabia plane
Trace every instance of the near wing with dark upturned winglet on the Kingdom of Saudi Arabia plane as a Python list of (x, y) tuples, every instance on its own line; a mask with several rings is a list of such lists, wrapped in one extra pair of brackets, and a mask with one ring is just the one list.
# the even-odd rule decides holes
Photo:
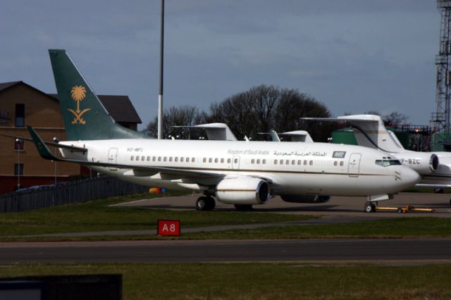
[[(35, 129), (31, 126), (28, 126), (28, 131), (32, 137), (32, 141), (35, 142), (35, 146), (39, 155), (47, 160), (51, 161), (63, 161), (66, 163), (79, 163), (80, 165), (89, 165), (93, 167), (106, 167), (106, 168), (118, 168), (118, 169), (127, 169), (130, 170), (130, 175), (135, 176), (152, 176), (157, 173), (161, 174), (161, 177), (165, 177), (164, 179), (180, 179), (185, 178), (193, 181), (206, 181), (206, 180), (221, 180), (225, 177), (225, 174), (217, 174), (217, 173), (209, 173), (203, 171), (194, 171), (194, 170), (185, 170), (180, 168), (166, 168), (166, 167), (152, 167), (152, 166), (144, 166), (144, 165), (128, 165), (121, 163), (102, 163), (99, 161), (79, 161), (75, 159), (65, 159), (58, 158), (51, 153), (45, 142), (39, 137)], [(87, 149), (86, 149), (87, 150)], [(128, 175), (125, 173), (125, 175)]]

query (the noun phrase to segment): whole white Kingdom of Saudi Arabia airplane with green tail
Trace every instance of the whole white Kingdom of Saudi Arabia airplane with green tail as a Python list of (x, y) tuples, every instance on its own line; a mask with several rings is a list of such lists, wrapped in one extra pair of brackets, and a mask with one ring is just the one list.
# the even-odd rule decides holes
[(44, 142), (29, 127), (43, 158), (87, 165), (140, 185), (202, 192), (198, 210), (213, 209), (214, 197), (237, 209), (276, 195), (297, 203), (326, 201), (329, 195), (378, 201), (419, 181), (414, 170), (362, 146), (149, 139), (114, 122), (65, 50), (49, 54), (69, 141)]

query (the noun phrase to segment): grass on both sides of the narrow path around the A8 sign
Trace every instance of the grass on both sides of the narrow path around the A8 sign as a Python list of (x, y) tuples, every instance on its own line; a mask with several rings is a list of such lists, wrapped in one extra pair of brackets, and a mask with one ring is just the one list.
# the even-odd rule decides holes
[[(273, 223), (315, 218), (309, 215), (243, 211), (170, 211), (110, 204), (157, 195), (134, 195), (0, 214), (0, 241), (93, 241), (167, 239), (156, 235), (91, 237), (21, 237), (65, 232), (155, 230), (159, 219), (181, 220), (183, 228)], [(273, 226), (248, 230), (183, 233), (171, 239), (309, 239), (309, 238), (451, 237), (450, 218), (397, 218), (331, 225)]]

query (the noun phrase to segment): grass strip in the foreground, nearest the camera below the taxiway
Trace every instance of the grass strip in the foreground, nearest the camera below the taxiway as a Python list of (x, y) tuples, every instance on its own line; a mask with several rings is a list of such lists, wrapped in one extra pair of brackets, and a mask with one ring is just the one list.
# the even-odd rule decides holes
[(0, 265), (0, 276), (123, 274), (123, 299), (450, 299), (450, 265)]

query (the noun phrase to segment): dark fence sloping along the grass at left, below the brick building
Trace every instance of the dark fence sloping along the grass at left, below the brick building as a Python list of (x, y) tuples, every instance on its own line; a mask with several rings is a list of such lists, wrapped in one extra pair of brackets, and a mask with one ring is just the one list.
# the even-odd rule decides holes
[(0, 212), (30, 211), (32, 209), (74, 204), (109, 196), (147, 192), (148, 188), (114, 177), (95, 177), (57, 185), (31, 187), (0, 195)]

